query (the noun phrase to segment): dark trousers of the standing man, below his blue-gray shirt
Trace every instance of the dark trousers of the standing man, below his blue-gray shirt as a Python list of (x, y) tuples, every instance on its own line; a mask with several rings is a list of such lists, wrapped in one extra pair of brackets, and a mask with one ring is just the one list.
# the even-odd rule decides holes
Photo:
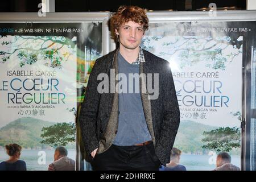
[(151, 142), (145, 146), (115, 146), (96, 154), (92, 166), (99, 171), (159, 171), (160, 161)]

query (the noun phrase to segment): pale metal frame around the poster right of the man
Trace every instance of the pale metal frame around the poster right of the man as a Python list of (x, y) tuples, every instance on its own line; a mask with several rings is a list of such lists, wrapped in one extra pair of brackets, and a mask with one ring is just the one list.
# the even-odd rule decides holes
[[(256, 10), (216, 11), (153, 11), (147, 13), (149, 23), (170, 22), (255, 22)], [(254, 110), (251, 109), (251, 40), (245, 42), (242, 55), (242, 122), (241, 122), (241, 170), (251, 169), (251, 118)], [(247, 49), (245, 49), (247, 47)], [(110, 47), (114, 49), (114, 46)]]

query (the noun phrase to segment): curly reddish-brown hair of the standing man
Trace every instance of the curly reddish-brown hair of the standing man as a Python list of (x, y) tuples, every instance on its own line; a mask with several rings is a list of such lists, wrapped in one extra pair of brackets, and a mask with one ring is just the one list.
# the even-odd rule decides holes
[(117, 12), (113, 14), (110, 19), (111, 27), (113, 28), (113, 31), (115, 29), (119, 30), (119, 27), (121, 27), (122, 24), (133, 21), (143, 25), (143, 30), (146, 31), (148, 29), (148, 18), (146, 12), (146, 9), (142, 9), (138, 6), (119, 6)]

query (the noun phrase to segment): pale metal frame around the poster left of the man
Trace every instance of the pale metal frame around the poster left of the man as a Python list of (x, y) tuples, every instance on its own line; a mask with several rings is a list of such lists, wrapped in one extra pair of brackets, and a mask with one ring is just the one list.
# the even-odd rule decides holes
[[(32, 23), (102, 23), (102, 55), (109, 53), (109, 12), (86, 12), (86, 13), (45, 13), (45, 16), (39, 16), (39, 13), (0, 13), (0, 23), (26, 23), (26, 26), (32, 26)], [(81, 90), (77, 93), (81, 95)], [(81, 103), (77, 101), (77, 110)], [(77, 112), (79, 113), (79, 112)], [(78, 117), (76, 117), (76, 123)], [(81, 137), (79, 131), (76, 133), (76, 170), (84, 170), (85, 161), (80, 150)]]

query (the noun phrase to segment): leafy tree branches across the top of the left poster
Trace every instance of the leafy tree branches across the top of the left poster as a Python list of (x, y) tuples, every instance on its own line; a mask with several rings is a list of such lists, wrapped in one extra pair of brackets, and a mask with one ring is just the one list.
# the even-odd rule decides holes
[[(64, 36), (13, 36), (12, 40), (4, 41), (6, 38), (7, 36), (0, 35), (1, 46), (5, 47), (0, 50), (0, 63), (5, 63), (16, 55), (20, 67), (44, 60), (47, 67), (61, 68), (76, 47), (76, 41)], [(64, 47), (67, 48), (63, 49)]]

